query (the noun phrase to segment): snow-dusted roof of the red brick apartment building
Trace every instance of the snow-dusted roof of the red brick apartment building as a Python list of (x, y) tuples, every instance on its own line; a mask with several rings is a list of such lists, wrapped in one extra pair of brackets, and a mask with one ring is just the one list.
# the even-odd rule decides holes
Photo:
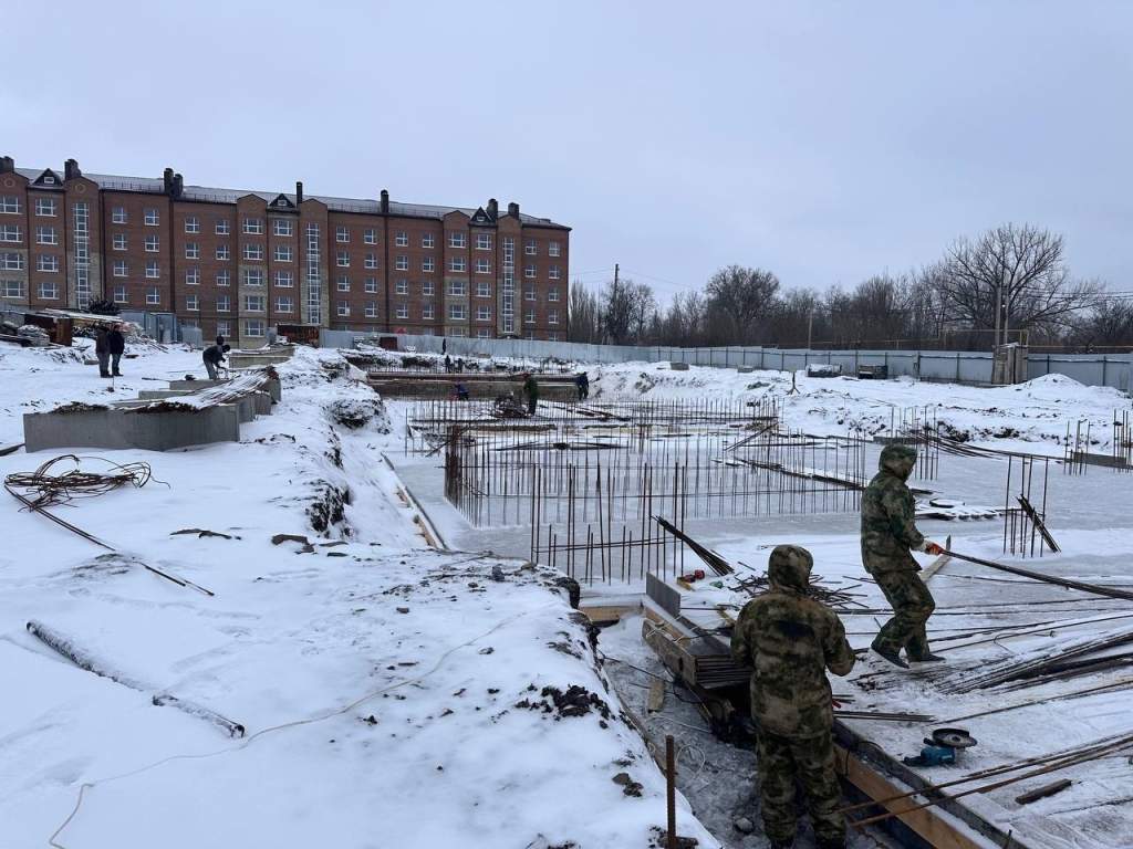
[[(16, 172), (26, 177), (29, 181), (35, 181), (35, 179), (42, 174), (44, 169), (32, 169), (32, 168), (17, 168)], [(100, 189), (108, 189), (112, 191), (137, 191), (146, 195), (164, 195), (165, 194), (165, 182), (164, 178), (161, 177), (121, 177), (118, 174), (88, 174), (83, 173), (83, 177), (88, 180), (93, 180), (99, 185)], [(275, 200), (280, 195), (286, 197), (291, 204), (296, 203), (296, 196), (293, 192), (289, 194), (286, 191), (256, 191), (256, 190), (245, 190), (245, 189), (218, 189), (208, 186), (188, 186), (184, 187), (181, 200), (202, 200), (214, 204), (235, 204), (237, 198), (246, 197), (247, 195), (256, 195), (262, 197), (269, 204)], [(350, 213), (365, 213), (369, 215), (380, 215), (382, 213), (382, 204), (380, 200), (373, 198), (348, 198), (348, 197), (333, 197), (331, 195), (308, 195), (306, 191), (303, 194), (305, 200), (318, 200), (326, 205), (326, 208), (331, 212), (350, 212)], [(390, 200), (390, 214), (391, 215), (403, 215), (410, 218), (443, 218), (451, 212), (462, 212), (469, 218), (472, 217), (477, 207), (469, 206), (438, 206), (435, 204), (403, 204), (397, 200)], [(551, 218), (539, 218), (535, 215), (528, 215), (527, 213), (520, 213), (519, 220), (521, 223), (529, 226), (546, 226), (554, 228), (557, 230), (570, 230), (565, 224), (559, 224)]]

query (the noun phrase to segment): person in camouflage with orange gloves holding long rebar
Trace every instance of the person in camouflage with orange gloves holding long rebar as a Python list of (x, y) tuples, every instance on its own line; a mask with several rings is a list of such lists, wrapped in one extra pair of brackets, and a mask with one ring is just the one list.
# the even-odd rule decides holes
[(893, 608), (893, 618), (881, 627), (872, 648), (891, 663), (905, 668), (909, 664), (901, 659), (902, 649), (915, 662), (944, 660), (929, 650), (925, 625), (936, 602), (917, 574), (920, 566), (910, 554), (944, 551), (926, 540), (913, 521), (917, 504), (905, 481), (915, 464), (915, 448), (885, 446), (879, 471), (861, 497), (861, 561)]

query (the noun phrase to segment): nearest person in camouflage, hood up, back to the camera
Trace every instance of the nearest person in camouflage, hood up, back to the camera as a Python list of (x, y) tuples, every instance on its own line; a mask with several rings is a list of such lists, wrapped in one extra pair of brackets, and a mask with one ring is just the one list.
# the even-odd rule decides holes
[(770, 589), (744, 606), (732, 632), (732, 657), (753, 670), (760, 807), (776, 849), (794, 842), (796, 781), (819, 848), (845, 846), (826, 670), (847, 675), (854, 654), (837, 615), (808, 593), (813, 563), (804, 548), (777, 546), (767, 564)]

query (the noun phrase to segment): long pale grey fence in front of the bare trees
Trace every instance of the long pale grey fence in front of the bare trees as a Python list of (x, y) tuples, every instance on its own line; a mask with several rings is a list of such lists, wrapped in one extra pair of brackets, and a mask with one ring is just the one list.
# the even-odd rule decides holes
[[(347, 331), (322, 331), (325, 348), (352, 348), (356, 340), (369, 338)], [(991, 383), (991, 354), (980, 351), (807, 351), (780, 348), (666, 348), (663, 345), (589, 345), (578, 342), (471, 338), (463, 336), (410, 336), (398, 334), (402, 351), (411, 346), (424, 353), (441, 353), (442, 344), (453, 357), (509, 357), (540, 361), (559, 359), (577, 362), (687, 362), (691, 366), (796, 371), (810, 363), (841, 366), (854, 375), (859, 366), (887, 366), (889, 377), (963, 384)], [(376, 344), (376, 340), (375, 340)], [(1133, 354), (1031, 354), (1028, 378), (1048, 374), (1072, 377), (1088, 386), (1110, 386), (1122, 392), (1133, 387), (1130, 372)]]

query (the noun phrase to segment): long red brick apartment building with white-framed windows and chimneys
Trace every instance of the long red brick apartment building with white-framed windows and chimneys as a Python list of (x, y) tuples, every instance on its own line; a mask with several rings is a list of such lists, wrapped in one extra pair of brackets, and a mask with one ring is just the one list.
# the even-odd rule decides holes
[(0, 157), (0, 303), (174, 314), (242, 346), (278, 324), (566, 338), (570, 228), (479, 208), (239, 191)]

